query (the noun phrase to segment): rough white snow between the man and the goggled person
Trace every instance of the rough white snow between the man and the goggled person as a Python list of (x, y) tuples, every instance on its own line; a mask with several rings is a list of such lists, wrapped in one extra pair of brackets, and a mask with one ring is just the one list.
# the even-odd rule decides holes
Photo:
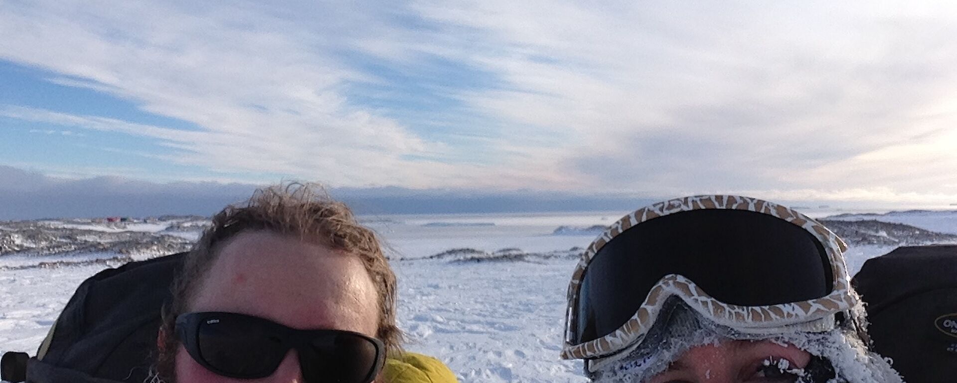
[(407, 349), (442, 359), (463, 383), (587, 382), (581, 362), (558, 357), (575, 263), (394, 263)]

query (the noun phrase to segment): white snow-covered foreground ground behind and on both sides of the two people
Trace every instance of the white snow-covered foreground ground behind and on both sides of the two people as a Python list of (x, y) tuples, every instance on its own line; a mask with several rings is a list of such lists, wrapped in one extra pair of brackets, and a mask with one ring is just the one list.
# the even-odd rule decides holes
[[(893, 250), (852, 247), (848, 266)], [(406, 349), (433, 355), (470, 382), (587, 382), (558, 357), (568, 278), (577, 260), (397, 260)], [(31, 354), (84, 279), (104, 266), (0, 270), (0, 351)]]

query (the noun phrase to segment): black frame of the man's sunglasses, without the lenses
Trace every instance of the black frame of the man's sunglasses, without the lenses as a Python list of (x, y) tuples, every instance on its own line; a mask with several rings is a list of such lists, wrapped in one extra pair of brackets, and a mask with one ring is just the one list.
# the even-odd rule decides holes
[[(252, 321), (256, 322), (258, 326), (262, 326), (266, 329), (266, 332), (276, 336), (281, 340), (281, 345), (285, 351), (283, 352), (282, 358), (279, 358), (278, 363), (274, 366), (268, 374), (259, 376), (259, 375), (243, 375), (236, 374), (233, 372), (222, 371), (215, 366), (212, 366), (206, 359), (203, 358), (203, 353), (199, 348), (199, 328), (204, 324), (207, 324), (208, 321), (221, 320), (225, 318), (239, 318), (243, 321)], [(300, 349), (311, 347), (311, 343), (316, 338), (329, 338), (340, 335), (354, 336), (357, 338), (362, 338), (363, 340), (369, 342), (375, 349), (375, 362), (369, 369), (366, 377), (363, 378), (360, 382), (356, 383), (368, 383), (371, 382), (378, 374), (382, 371), (383, 366), (385, 365), (386, 359), (386, 346), (385, 344), (376, 338), (370, 337), (366, 334), (348, 331), (343, 329), (298, 329), (292, 327), (286, 327), (280, 325), (276, 322), (270, 321), (265, 318), (256, 317), (254, 315), (240, 314), (234, 312), (220, 312), (220, 311), (204, 311), (204, 312), (189, 312), (181, 314), (176, 317), (176, 327), (175, 327), (176, 336), (183, 343), (184, 348), (187, 349), (189, 356), (196, 361), (203, 368), (215, 372), (216, 374), (233, 377), (238, 379), (257, 379), (263, 378), (276, 373), (276, 369), (282, 359), (285, 358), (285, 354), (289, 353), (290, 349), (296, 349), (300, 352)], [(300, 362), (301, 363), (301, 362)], [(301, 366), (300, 366), (301, 368)]]

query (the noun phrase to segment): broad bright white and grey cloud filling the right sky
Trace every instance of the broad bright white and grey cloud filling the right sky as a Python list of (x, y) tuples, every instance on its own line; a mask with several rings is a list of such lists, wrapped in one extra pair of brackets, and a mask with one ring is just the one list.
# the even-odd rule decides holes
[(463, 99), (594, 189), (957, 200), (953, 6), (864, 5), (414, 3), (511, 85)]

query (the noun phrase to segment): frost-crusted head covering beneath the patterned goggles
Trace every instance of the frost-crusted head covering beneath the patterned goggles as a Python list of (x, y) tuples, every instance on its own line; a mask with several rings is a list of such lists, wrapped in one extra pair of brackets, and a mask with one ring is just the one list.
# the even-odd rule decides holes
[(889, 361), (867, 350), (853, 328), (824, 332), (753, 334), (719, 326), (673, 298), (662, 308), (655, 326), (638, 346), (592, 360), (586, 373), (595, 383), (643, 383), (679, 359), (688, 349), (732, 340), (768, 340), (812, 354), (805, 370), (786, 360), (770, 361), (783, 372), (798, 376), (799, 383), (901, 383)]

